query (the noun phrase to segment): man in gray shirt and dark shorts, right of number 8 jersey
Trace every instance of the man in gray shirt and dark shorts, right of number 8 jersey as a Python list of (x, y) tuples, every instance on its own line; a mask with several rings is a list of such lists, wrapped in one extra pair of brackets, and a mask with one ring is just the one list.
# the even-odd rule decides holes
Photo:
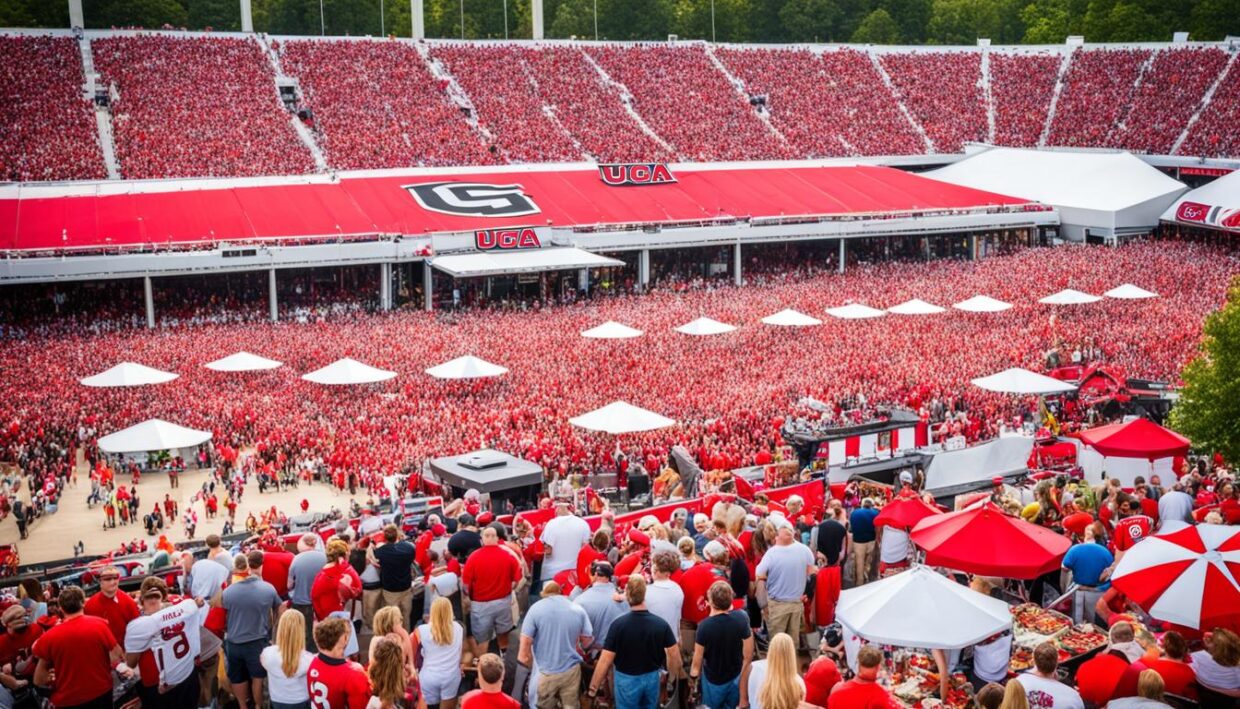
[(249, 575), (223, 592), (223, 607), (228, 614), (224, 661), (233, 695), (242, 707), (249, 705), (250, 697), (255, 703), (262, 702), (267, 669), (259, 656), (272, 638), (272, 626), (281, 606), (275, 586), (263, 580), (263, 553), (250, 552), (246, 558)]

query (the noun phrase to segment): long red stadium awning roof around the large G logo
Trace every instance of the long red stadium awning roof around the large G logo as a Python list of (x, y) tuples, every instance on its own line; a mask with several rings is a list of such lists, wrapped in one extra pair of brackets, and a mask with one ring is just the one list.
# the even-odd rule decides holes
[[(1028, 200), (877, 166), (676, 170), (676, 182), (605, 185), (596, 169), (229, 181), (19, 186), (0, 197), (0, 249), (335, 237), (425, 236), (515, 226), (589, 227), (720, 218), (883, 216), (1019, 206)], [(405, 188), (425, 182), (520, 185), (537, 212), (477, 217), (424, 208)], [(118, 193), (119, 192), (119, 193)]]

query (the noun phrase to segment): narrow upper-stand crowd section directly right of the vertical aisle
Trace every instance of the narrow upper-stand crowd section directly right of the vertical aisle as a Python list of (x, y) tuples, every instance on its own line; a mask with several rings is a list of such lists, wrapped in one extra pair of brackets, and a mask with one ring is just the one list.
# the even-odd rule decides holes
[(1063, 57), (1059, 55), (991, 55), (996, 145), (1038, 145), (1047, 125), (1060, 64)]

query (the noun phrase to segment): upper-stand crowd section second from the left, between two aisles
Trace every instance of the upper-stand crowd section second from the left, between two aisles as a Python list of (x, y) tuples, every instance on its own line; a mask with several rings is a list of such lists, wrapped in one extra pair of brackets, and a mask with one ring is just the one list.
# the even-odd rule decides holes
[(141, 35), (91, 47), (115, 98), (112, 125), (124, 177), (314, 171), (253, 40)]

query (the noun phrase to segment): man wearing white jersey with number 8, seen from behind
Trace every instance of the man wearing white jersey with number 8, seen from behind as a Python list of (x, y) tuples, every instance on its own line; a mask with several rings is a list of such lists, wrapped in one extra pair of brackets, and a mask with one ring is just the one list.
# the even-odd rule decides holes
[(125, 627), (125, 663), (139, 666), (148, 650), (159, 668), (159, 692), (143, 699), (155, 709), (197, 707), (198, 673), (195, 663), (201, 650), (202, 599), (187, 599), (164, 607), (166, 590), (154, 585), (143, 594), (143, 615)]

